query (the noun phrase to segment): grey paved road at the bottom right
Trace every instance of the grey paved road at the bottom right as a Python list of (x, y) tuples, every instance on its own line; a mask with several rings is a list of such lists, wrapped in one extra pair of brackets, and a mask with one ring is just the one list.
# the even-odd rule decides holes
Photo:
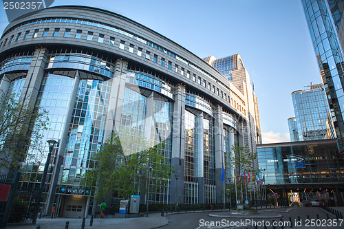
[[(326, 212), (320, 208), (290, 208), (289, 212), (283, 209), (272, 209), (275, 211), (266, 211), (265, 209), (259, 210), (259, 215), (282, 215), (282, 217), (277, 217), (275, 219), (258, 219), (258, 218), (228, 218), (229, 212), (196, 212), (196, 213), (182, 213), (175, 215), (168, 215), (169, 225), (162, 227), (162, 229), (201, 229), (201, 228), (257, 228), (263, 229), (264, 223), (266, 228), (272, 227), (272, 220), (276, 223), (281, 223), (280, 219), (283, 219), (284, 228), (290, 228), (289, 217), (292, 218), (292, 228), (297, 229), (310, 229), (310, 228), (329, 228), (329, 229), (342, 229), (344, 228), (344, 221), (335, 221), (334, 217), (329, 215), (330, 220), (327, 220)], [(213, 215), (223, 215), (224, 217), (211, 217), (209, 214)], [(317, 219), (319, 215), (319, 219)], [(308, 219), (309, 216), (309, 219)], [(298, 219), (300, 217), (300, 219)], [(313, 219), (313, 221), (312, 221)], [(333, 223), (337, 223), (337, 226), (333, 226)], [(314, 223), (314, 225), (312, 225)], [(318, 226), (316, 226), (318, 223)], [(320, 224), (319, 224), (320, 223)], [(341, 225), (339, 225), (341, 223)], [(209, 226), (210, 225), (210, 226)], [(211, 227), (213, 225), (213, 227)], [(235, 226), (237, 225), (237, 226)], [(276, 229), (281, 228), (281, 225), (277, 225)]]

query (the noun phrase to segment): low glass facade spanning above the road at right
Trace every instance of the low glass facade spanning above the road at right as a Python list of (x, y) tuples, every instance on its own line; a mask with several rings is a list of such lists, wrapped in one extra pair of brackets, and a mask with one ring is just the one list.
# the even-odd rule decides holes
[(266, 168), (266, 184), (344, 180), (344, 162), (334, 140), (261, 144), (257, 148), (259, 168)]

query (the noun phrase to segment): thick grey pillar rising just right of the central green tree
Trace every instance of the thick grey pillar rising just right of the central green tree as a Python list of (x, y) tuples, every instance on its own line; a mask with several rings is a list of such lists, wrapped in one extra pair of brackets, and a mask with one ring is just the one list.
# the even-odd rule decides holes
[[(175, 102), (173, 104), (171, 166), (175, 173), (171, 175), (171, 204), (183, 203), (184, 201), (184, 116), (184, 86), (177, 85), (175, 89)], [(175, 175), (179, 175), (178, 184)]]

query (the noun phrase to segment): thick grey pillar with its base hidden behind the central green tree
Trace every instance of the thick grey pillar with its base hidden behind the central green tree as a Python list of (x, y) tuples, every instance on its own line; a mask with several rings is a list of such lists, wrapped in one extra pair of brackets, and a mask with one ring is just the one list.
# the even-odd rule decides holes
[[(110, 133), (120, 127), (120, 114), (125, 97), (125, 79), (127, 78), (128, 62), (118, 59), (116, 61), (116, 70), (114, 78), (111, 79), (111, 91), (109, 96), (109, 106), (107, 109), (107, 118), (105, 120), (104, 141), (107, 140)], [(138, 87), (137, 87), (138, 88)]]

